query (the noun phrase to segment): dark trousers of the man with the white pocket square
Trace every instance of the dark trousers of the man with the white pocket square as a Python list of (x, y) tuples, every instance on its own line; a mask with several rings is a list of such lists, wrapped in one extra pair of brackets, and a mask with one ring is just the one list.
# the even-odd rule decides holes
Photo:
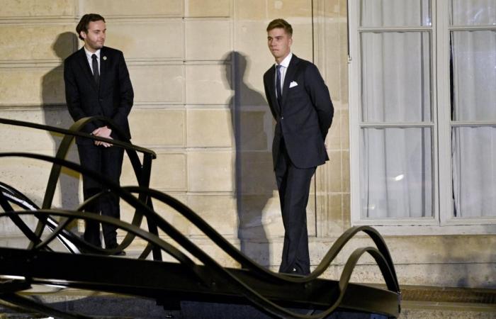
[(306, 207), (315, 167), (295, 167), (283, 140), (280, 147), (275, 169), (284, 224), (283, 256), (279, 272), (306, 275), (310, 274)]

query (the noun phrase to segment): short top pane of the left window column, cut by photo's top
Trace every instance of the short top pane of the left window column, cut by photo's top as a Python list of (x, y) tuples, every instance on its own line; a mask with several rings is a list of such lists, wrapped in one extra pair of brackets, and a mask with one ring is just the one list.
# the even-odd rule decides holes
[(429, 0), (361, 0), (360, 26), (431, 26)]

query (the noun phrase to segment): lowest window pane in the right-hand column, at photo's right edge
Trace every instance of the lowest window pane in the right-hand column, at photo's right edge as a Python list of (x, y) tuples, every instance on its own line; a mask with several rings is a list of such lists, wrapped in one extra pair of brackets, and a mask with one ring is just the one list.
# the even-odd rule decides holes
[(496, 126), (453, 128), (453, 216), (496, 216)]

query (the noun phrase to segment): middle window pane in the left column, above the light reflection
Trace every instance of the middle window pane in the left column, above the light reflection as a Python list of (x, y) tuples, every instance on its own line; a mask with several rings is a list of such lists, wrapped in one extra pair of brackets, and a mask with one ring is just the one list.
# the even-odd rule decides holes
[(431, 121), (429, 32), (361, 33), (362, 121)]

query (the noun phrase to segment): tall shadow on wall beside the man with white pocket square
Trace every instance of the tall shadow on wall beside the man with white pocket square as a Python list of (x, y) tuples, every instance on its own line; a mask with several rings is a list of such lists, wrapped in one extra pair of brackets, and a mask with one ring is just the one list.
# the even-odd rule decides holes
[[(272, 116), (264, 96), (244, 82), (247, 57), (227, 52), (223, 57), (225, 78), (234, 95), (231, 107), (235, 134), (235, 196), (241, 250), (266, 267), (270, 265), (269, 242), (264, 224), (276, 191), (271, 155)], [(280, 213), (279, 213), (280, 215)]]

